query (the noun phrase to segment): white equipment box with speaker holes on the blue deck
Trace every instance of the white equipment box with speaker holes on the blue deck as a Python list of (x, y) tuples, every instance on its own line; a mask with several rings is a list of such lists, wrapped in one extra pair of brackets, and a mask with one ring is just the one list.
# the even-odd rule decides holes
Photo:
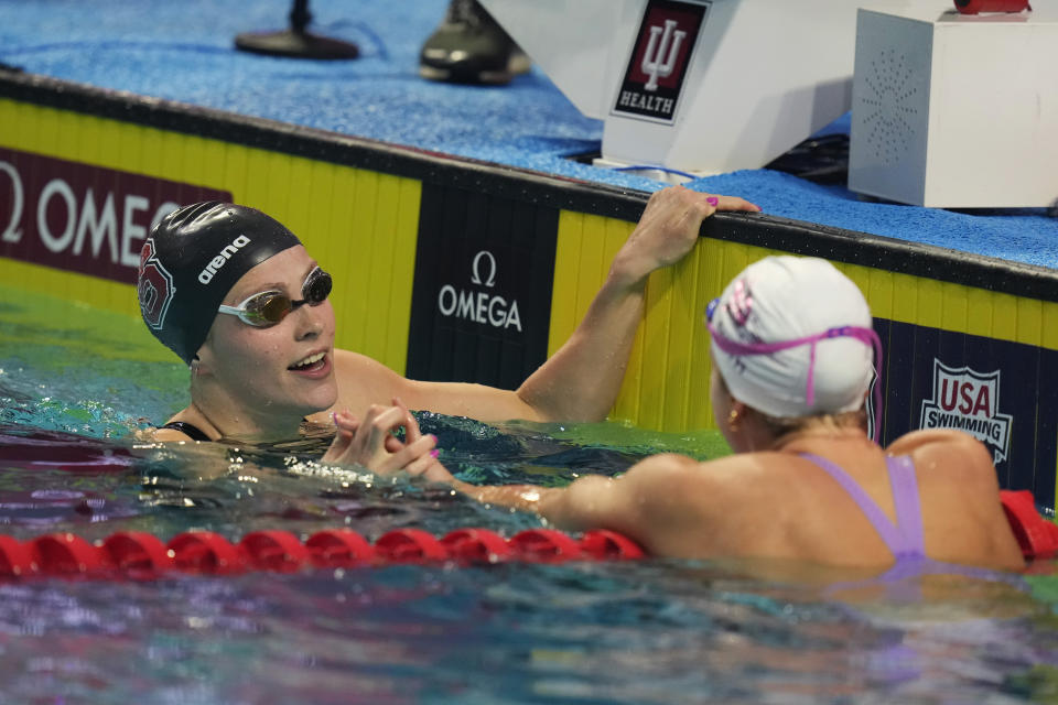
[(1055, 205), (1058, 1), (1032, 4), (860, 10), (850, 189), (942, 208)]

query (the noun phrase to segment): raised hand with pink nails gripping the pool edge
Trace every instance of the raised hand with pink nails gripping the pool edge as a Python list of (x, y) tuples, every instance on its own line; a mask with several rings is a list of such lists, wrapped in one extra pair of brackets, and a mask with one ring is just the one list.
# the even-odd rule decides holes
[(656, 192), (647, 202), (628, 240), (614, 258), (611, 276), (627, 285), (640, 285), (650, 272), (673, 264), (698, 242), (702, 221), (717, 210), (758, 213), (744, 198), (716, 196), (671, 186)]

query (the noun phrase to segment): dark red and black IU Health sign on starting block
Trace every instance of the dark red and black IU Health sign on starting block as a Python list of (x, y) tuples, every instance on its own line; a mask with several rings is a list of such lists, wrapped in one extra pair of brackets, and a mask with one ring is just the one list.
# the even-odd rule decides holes
[(683, 78), (710, 2), (649, 0), (625, 78), (617, 91), (615, 113), (665, 122), (676, 118)]

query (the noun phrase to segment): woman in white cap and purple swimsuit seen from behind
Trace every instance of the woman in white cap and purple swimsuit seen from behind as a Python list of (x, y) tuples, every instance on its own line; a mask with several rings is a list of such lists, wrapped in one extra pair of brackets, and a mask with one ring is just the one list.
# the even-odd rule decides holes
[(706, 315), (712, 409), (734, 455), (657, 455), (566, 488), (475, 487), (439, 464), (412, 471), (559, 527), (622, 532), (655, 555), (893, 566), (894, 579), (1024, 566), (984, 445), (959, 431), (916, 431), (887, 448), (867, 436), (881, 343), (832, 264), (766, 258)]

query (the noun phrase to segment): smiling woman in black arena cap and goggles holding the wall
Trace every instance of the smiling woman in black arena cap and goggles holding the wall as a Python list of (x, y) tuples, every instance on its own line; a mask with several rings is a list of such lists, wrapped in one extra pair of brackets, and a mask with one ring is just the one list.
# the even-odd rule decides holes
[[(715, 210), (759, 208), (682, 187), (654, 194), (569, 341), (516, 391), (412, 381), (334, 348), (331, 276), (298, 238), (244, 206), (201, 203), (163, 218), (140, 257), (151, 332), (191, 367), (191, 404), (155, 441), (260, 443), (303, 420), (338, 427), (324, 462), (422, 471), (435, 464), (412, 409), (481, 421), (598, 421), (617, 397), (650, 272), (679, 261)], [(358, 420), (346, 410), (363, 410)], [(389, 433), (403, 426), (407, 444)]]

